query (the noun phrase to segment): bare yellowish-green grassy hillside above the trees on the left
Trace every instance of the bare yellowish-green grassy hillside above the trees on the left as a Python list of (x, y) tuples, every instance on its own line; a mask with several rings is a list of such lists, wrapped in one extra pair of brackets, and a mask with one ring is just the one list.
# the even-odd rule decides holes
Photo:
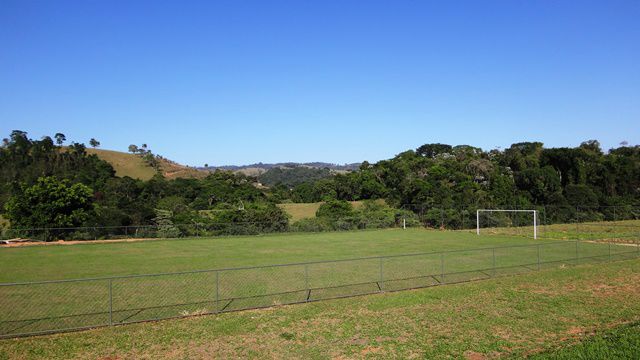
[[(100, 159), (111, 164), (116, 175), (120, 177), (129, 176), (134, 179), (149, 180), (156, 174), (156, 170), (145, 163), (139, 155), (91, 148), (87, 149), (87, 152), (96, 154)], [(158, 160), (162, 174), (167, 179), (203, 178), (208, 174), (206, 171), (180, 165), (168, 159), (159, 158)]]

